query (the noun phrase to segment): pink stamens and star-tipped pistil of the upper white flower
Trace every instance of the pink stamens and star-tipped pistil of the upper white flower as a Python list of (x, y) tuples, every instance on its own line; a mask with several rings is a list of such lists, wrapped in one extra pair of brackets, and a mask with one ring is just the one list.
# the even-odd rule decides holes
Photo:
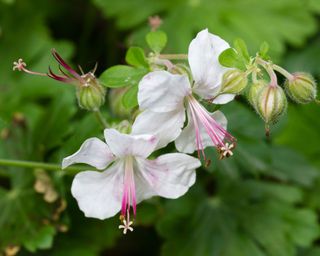
[[(235, 148), (236, 139), (192, 95), (188, 96), (187, 99), (195, 127), (198, 157), (200, 158), (201, 152), (204, 160), (207, 161), (204, 153), (203, 138), (201, 138), (200, 125), (205, 129), (215, 147), (217, 147), (220, 159), (232, 156), (232, 149)], [(209, 161), (207, 163), (209, 164)]]

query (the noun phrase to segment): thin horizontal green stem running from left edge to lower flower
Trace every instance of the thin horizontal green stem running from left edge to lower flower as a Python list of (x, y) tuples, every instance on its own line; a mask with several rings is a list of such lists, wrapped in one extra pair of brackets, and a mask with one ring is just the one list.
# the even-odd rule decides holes
[[(14, 159), (0, 159), (0, 166), (13, 166), (13, 167), (23, 167), (23, 168), (41, 168), (48, 171), (61, 171), (60, 164), (48, 164), (43, 162), (32, 162), (32, 161), (21, 161), (21, 160), (14, 160)], [(77, 173), (84, 169), (83, 167), (67, 167), (64, 169), (66, 173), (73, 174)], [(69, 173), (71, 171), (71, 173)]]

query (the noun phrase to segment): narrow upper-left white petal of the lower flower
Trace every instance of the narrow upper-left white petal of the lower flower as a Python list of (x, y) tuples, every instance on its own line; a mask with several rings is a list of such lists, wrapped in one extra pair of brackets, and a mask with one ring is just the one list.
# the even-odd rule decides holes
[(114, 156), (106, 143), (98, 138), (87, 139), (80, 149), (62, 161), (62, 169), (75, 163), (84, 163), (96, 167), (99, 170), (105, 169)]

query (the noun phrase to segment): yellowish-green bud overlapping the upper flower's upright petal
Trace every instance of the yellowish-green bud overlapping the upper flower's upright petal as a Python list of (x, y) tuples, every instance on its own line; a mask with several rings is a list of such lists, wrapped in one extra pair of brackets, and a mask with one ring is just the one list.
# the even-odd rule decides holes
[(237, 69), (228, 70), (222, 77), (221, 93), (238, 94), (248, 84), (245, 72)]

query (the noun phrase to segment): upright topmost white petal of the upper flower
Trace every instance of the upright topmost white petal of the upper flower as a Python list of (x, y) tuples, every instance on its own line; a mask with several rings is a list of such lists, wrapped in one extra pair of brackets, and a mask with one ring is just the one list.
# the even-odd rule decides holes
[(229, 70), (219, 63), (219, 55), (229, 44), (219, 36), (204, 29), (189, 45), (188, 59), (195, 86), (193, 91), (203, 98), (215, 96), (221, 85), (222, 75)]

